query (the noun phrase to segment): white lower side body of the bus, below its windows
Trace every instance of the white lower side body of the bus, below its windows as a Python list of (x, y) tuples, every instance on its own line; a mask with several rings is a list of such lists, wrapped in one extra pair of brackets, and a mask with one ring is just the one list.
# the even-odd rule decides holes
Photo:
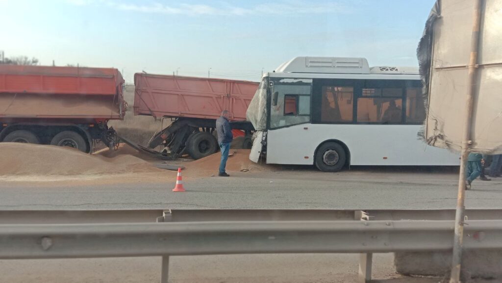
[(312, 165), (321, 143), (339, 140), (350, 151), (350, 165), (460, 165), (459, 154), (419, 140), (420, 127), (306, 123), (269, 130), (267, 163)]

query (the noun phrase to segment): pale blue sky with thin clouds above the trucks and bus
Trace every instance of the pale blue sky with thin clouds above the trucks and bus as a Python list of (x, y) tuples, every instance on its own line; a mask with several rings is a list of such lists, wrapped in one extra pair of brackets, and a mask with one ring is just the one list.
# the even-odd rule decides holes
[(260, 80), (296, 56), (417, 66), (435, 0), (0, 0), (0, 50), (43, 65)]

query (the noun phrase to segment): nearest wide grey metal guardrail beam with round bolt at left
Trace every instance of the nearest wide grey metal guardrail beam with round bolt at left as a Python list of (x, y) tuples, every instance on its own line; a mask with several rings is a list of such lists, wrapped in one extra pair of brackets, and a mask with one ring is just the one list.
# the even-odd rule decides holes
[[(466, 224), (466, 248), (502, 248), (502, 220)], [(0, 258), (448, 250), (453, 227), (428, 220), (0, 225)]]

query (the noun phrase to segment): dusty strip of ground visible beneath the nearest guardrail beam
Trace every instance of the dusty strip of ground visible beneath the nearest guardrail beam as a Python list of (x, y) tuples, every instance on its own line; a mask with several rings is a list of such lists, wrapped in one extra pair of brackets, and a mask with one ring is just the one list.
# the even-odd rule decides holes
[[(392, 254), (373, 256), (373, 283), (435, 283), (392, 268)], [(0, 282), (159, 282), (160, 257), (0, 260)], [(242, 254), (173, 256), (171, 283), (356, 283), (356, 254)], [(57, 272), (54, 272), (57, 270)]]

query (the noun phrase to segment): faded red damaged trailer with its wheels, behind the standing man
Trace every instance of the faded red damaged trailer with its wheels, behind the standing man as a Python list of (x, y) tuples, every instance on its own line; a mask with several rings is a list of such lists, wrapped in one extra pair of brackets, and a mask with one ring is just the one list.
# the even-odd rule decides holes
[(134, 83), (135, 115), (173, 120), (152, 137), (150, 148), (164, 145), (173, 158), (187, 153), (199, 159), (217, 152), (215, 123), (224, 109), (230, 111), (232, 129), (246, 133), (242, 147), (251, 147), (254, 128), (245, 119), (258, 83), (146, 73), (135, 74)]

